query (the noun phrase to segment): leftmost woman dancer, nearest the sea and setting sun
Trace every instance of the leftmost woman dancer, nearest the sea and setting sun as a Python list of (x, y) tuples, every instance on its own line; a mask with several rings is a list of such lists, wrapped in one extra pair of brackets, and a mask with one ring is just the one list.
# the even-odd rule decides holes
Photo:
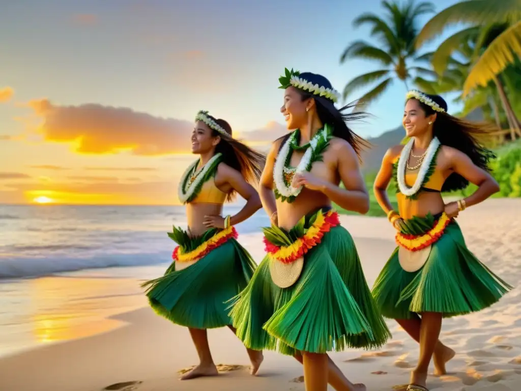
[[(251, 184), (258, 182), (265, 158), (231, 133), (225, 120), (197, 113), (192, 153), (200, 157), (179, 184), (179, 200), (187, 205), (188, 231), (173, 227), (168, 236), (178, 246), (172, 264), (163, 277), (143, 284), (156, 313), (189, 328), (200, 364), (181, 380), (217, 375), (206, 329), (228, 326), (235, 332), (226, 302), (246, 287), (255, 270), (250, 254), (235, 240), (233, 226), (262, 206)], [(236, 193), (246, 205), (236, 215), (222, 217), (222, 205)], [(255, 374), (262, 351), (247, 352)]]

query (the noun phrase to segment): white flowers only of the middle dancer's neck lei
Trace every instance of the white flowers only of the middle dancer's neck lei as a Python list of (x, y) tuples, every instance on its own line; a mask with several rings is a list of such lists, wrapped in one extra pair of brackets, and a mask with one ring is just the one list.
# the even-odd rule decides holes
[(275, 186), (277, 187), (278, 192), (283, 197), (296, 197), (300, 194), (302, 191), (302, 186), (296, 188), (293, 187), (291, 184), (286, 185), (286, 182), (284, 181), (284, 173), (290, 173), (293, 172), (295, 174), (303, 173), (307, 170), (307, 165), (311, 161), (311, 155), (313, 154), (313, 151), (317, 147), (317, 143), (320, 137), (323, 137), (324, 140), (327, 140), (328, 136), (328, 128), (329, 125), (325, 125), (324, 129), (317, 132), (315, 136), (309, 141), (309, 148), (304, 152), (304, 156), (302, 156), (302, 160), (300, 161), (299, 165), (295, 168), (288, 168), (286, 167), (286, 160), (288, 159), (288, 155), (291, 153), (291, 144), (295, 141), (296, 138), (296, 130), (293, 132), (293, 134), (286, 140), (284, 145), (282, 146), (279, 154), (277, 155), (277, 160), (275, 162), (275, 166), (273, 168), (273, 179), (275, 181)]

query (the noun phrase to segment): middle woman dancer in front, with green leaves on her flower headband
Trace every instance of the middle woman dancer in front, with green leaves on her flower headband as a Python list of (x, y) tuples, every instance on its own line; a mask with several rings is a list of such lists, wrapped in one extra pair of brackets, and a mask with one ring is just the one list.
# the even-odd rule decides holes
[[(235, 298), (237, 336), (252, 349), (278, 350), (304, 364), (308, 391), (365, 390), (328, 357), (346, 347), (378, 347), (390, 333), (367, 286), (353, 238), (331, 202), (366, 213), (359, 170), (364, 140), (346, 125), (363, 113), (334, 106), (338, 92), (324, 76), (289, 71), (281, 112), (288, 129), (274, 142), (259, 194), (271, 216), (267, 255)], [(339, 187), (340, 181), (345, 188)]]

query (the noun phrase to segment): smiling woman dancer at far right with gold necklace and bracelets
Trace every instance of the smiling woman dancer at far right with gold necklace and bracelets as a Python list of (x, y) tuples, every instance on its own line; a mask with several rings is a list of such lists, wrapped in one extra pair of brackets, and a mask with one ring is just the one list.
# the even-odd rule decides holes
[[(438, 340), (442, 318), (482, 310), (511, 289), (468, 250), (454, 220), (499, 190), (489, 174), (493, 155), (476, 140), (492, 128), (446, 111), (441, 96), (407, 93), (403, 126), (411, 139), (387, 151), (374, 185), (378, 203), (398, 230), (398, 247), (373, 294), (383, 316), (398, 321), (420, 344), (410, 391), (427, 390), (431, 357), (438, 374), (454, 357)], [(398, 188), (399, 213), (387, 197), (391, 179)], [(442, 191), (464, 189), (469, 182), (479, 186), (474, 194), (444, 204)]]

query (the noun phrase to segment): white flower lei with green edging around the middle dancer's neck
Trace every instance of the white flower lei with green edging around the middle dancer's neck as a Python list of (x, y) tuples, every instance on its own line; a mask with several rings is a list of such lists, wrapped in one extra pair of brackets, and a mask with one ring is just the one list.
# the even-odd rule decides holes
[(313, 163), (322, 160), (322, 153), (329, 145), (329, 141), (333, 138), (331, 127), (326, 124), (324, 129), (319, 130), (315, 136), (309, 141), (309, 146), (302, 156), (302, 160), (296, 168), (289, 166), (291, 155), (296, 146), (297, 137), (300, 131), (295, 130), (292, 135), (286, 140), (279, 154), (273, 169), (273, 178), (275, 181), (275, 198), (289, 203), (293, 202), (295, 198), (302, 191), (302, 186), (295, 188), (291, 185), (291, 180), (295, 174), (308, 172)]

